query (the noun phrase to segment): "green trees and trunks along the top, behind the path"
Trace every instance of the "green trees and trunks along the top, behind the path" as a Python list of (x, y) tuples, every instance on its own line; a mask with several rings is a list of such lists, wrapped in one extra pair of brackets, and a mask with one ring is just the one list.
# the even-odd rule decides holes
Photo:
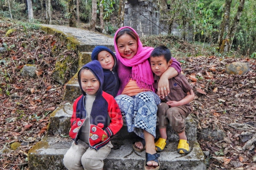
[[(160, 14), (168, 8), (169, 34), (176, 22), (182, 39), (192, 29), (193, 43), (203, 43), (203, 47), (209, 44), (222, 55), (236, 51), (256, 57), (254, 0), (151, 1), (160, 6)], [(124, 4), (124, 0), (0, 0), (0, 16), (32, 23), (69, 24), (113, 35), (123, 26)], [(188, 25), (191, 29), (185, 29)]]

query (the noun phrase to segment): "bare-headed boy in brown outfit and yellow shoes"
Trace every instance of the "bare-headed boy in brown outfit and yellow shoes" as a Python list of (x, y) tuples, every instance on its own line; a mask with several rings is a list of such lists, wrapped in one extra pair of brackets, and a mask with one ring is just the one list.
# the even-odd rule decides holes
[[(172, 63), (170, 50), (165, 46), (156, 47), (150, 54), (150, 63), (151, 69), (155, 73), (155, 88), (158, 89), (158, 81), (162, 73)], [(164, 147), (169, 144), (166, 135), (166, 126), (169, 121), (172, 129), (180, 138), (178, 153), (188, 153), (189, 142), (185, 134), (185, 119), (192, 111), (189, 102), (194, 99), (194, 92), (182, 74), (169, 79), (169, 88), (170, 93), (166, 98), (161, 97), (162, 103), (158, 105), (160, 138), (155, 143), (156, 151), (163, 151)]]

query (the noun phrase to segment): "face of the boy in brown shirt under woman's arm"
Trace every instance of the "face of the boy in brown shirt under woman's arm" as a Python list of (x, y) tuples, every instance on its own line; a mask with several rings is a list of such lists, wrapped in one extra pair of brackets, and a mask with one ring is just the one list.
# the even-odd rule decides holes
[(169, 62), (166, 62), (164, 56), (150, 57), (151, 69), (158, 76), (161, 76), (171, 63), (172, 59)]

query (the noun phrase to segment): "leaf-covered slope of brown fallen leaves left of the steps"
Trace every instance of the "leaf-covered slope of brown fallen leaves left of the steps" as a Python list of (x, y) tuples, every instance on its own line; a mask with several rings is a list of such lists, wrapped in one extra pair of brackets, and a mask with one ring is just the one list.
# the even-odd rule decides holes
[[(29, 149), (46, 135), (49, 115), (62, 102), (64, 87), (52, 79), (58, 54), (76, 54), (40, 29), (4, 21), (0, 27), (0, 47), (7, 47), (0, 54), (0, 168), (26, 170)], [(16, 31), (6, 37), (11, 28)], [(37, 65), (36, 78), (20, 74), (25, 64)], [(15, 151), (14, 142), (21, 144)]]

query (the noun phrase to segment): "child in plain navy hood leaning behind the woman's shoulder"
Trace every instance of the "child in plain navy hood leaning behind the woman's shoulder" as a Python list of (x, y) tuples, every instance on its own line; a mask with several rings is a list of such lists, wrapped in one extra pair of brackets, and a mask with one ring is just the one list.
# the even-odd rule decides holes
[(105, 46), (96, 46), (91, 54), (92, 60), (98, 60), (103, 68), (105, 81), (102, 90), (116, 97), (120, 83), (116, 70), (117, 58), (114, 53)]

